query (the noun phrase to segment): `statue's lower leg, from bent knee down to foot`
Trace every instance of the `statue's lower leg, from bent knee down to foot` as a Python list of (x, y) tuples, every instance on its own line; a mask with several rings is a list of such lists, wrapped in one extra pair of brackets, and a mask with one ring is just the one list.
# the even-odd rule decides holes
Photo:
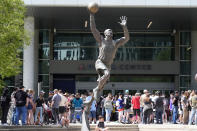
[(104, 85), (107, 82), (107, 80), (109, 79), (109, 77), (110, 77), (109, 70), (107, 70), (107, 69), (103, 70), (103, 75), (99, 79), (98, 86), (95, 89), (93, 89), (94, 99), (96, 101), (97, 101), (99, 92), (104, 88)]

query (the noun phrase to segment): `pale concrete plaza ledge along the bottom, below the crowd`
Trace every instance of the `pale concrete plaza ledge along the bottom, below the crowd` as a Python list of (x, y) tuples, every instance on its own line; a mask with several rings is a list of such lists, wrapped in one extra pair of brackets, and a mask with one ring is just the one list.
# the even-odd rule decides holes
[[(96, 124), (91, 124), (91, 131), (94, 131)], [(195, 125), (181, 124), (120, 124), (106, 123), (109, 131), (196, 131)], [(0, 126), (0, 131), (80, 131), (81, 124), (70, 124), (68, 128), (54, 125), (44, 126)]]

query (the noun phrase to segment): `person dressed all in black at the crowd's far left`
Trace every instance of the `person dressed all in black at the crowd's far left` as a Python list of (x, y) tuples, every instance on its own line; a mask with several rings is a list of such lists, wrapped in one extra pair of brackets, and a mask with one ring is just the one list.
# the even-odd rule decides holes
[(5, 87), (3, 90), (3, 94), (1, 96), (1, 109), (2, 109), (2, 116), (1, 116), (1, 124), (7, 124), (7, 115), (8, 110), (10, 107), (11, 96), (9, 94), (8, 87)]

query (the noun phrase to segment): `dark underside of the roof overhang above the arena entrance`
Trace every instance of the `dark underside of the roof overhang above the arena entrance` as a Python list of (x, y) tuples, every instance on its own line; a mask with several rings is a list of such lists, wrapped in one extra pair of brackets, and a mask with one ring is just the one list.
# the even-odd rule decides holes
[[(27, 15), (36, 18), (36, 28), (89, 31), (89, 13), (84, 7), (28, 7)], [(100, 31), (122, 31), (119, 17), (128, 17), (129, 31), (196, 30), (197, 8), (100, 8), (96, 24)], [(85, 21), (88, 27), (85, 27)], [(147, 29), (148, 24), (152, 25)]]

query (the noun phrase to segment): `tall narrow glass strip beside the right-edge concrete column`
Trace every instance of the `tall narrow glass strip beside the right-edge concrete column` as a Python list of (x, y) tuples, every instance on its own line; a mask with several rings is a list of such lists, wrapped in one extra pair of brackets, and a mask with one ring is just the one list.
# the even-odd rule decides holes
[(180, 89), (191, 87), (191, 32), (180, 32)]

